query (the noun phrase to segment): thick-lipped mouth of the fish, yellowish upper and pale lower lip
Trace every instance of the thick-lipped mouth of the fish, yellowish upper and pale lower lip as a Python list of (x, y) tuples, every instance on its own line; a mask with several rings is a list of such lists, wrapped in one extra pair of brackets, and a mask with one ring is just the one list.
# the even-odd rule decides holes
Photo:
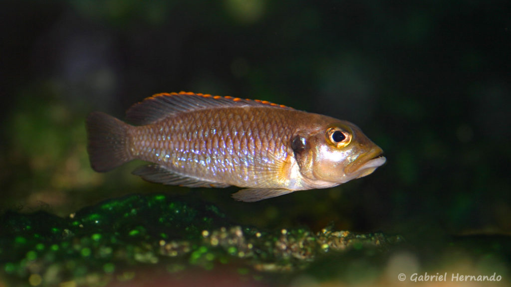
[(383, 150), (379, 147), (363, 153), (344, 168), (344, 173), (353, 178), (361, 178), (370, 175), (387, 161), (382, 154)]

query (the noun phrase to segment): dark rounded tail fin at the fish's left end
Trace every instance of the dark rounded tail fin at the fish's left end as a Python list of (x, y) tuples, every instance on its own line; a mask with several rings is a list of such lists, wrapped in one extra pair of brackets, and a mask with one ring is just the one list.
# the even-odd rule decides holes
[(102, 112), (87, 116), (90, 166), (97, 172), (107, 172), (133, 159), (127, 147), (129, 125)]

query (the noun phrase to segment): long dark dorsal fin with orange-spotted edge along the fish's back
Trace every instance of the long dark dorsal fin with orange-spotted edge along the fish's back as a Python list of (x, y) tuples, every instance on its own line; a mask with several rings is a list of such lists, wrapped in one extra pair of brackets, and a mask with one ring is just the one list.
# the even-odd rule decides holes
[(293, 109), (268, 101), (221, 97), (219, 95), (181, 91), (179, 93), (154, 94), (144, 101), (131, 106), (131, 108), (126, 111), (126, 117), (132, 124), (148, 125), (177, 112), (232, 106), (267, 106)]

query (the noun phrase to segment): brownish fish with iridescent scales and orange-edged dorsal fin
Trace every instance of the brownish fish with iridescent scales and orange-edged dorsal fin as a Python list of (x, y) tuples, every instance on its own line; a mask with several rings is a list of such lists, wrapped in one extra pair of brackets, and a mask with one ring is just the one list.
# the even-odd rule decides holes
[(86, 118), (87, 152), (97, 172), (134, 159), (146, 181), (243, 189), (254, 202), (328, 188), (373, 173), (383, 151), (356, 125), (268, 101), (178, 92), (158, 93), (126, 111)]

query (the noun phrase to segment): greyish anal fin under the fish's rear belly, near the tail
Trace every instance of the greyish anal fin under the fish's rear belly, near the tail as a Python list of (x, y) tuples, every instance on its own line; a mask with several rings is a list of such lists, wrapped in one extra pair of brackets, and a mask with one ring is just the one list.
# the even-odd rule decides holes
[(227, 187), (229, 184), (197, 179), (177, 174), (165, 166), (148, 164), (136, 168), (132, 174), (142, 177), (144, 180), (168, 185), (180, 185), (187, 187)]

